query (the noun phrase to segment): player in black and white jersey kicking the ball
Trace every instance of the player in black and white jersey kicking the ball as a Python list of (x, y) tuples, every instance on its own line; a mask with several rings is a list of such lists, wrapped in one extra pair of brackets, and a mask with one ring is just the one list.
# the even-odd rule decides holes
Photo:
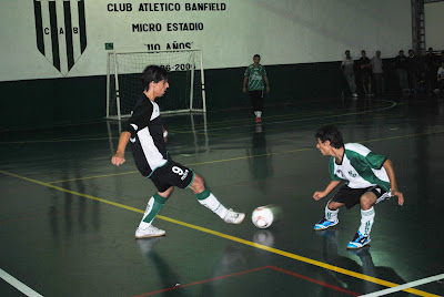
[(160, 110), (154, 102), (157, 98), (163, 96), (170, 86), (167, 70), (157, 65), (147, 66), (142, 72), (142, 83), (143, 92), (134, 106), (125, 131), (120, 136), (118, 151), (111, 158), (111, 163), (117, 166), (123, 164), (127, 144), (131, 142), (138, 170), (158, 188), (158, 193), (150, 198), (147, 205), (142, 221), (135, 231), (135, 237), (155, 237), (165, 234), (164, 231), (154, 227), (152, 222), (173, 192), (174, 186), (190, 188), (200, 204), (211, 209), (224, 222), (242, 223), (245, 214), (225, 208), (205, 188), (201, 176), (191, 168), (172, 161), (167, 152)]

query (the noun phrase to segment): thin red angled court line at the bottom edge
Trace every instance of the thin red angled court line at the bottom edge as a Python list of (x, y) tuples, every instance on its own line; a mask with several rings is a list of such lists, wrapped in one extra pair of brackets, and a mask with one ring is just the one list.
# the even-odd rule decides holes
[(349, 295), (352, 295), (352, 296), (360, 296), (361, 295), (361, 294), (352, 291), (352, 290), (343, 289), (343, 288), (326, 284), (324, 281), (321, 281), (321, 280), (317, 280), (317, 279), (314, 279), (314, 278), (311, 278), (311, 277), (307, 277), (307, 276), (304, 276), (304, 275), (300, 275), (300, 274), (296, 274), (296, 273), (293, 273), (293, 272), (290, 272), (290, 270), (286, 270), (286, 269), (270, 265), (270, 266), (259, 267), (259, 268), (254, 268), (254, 269), (250, 269), (250, 270), (244, 270), (244, 272), (239, 272), (239, 273), (233, 273), (233, 274), (229, 274), (229, 275), (218, 276), (218, 277), (213, 277), (213, 278), (209, 278), (209, 279), (203, 279), (203, 280), (185, 284), (185, 285), (179, 285), (179, 286), (170, 287), (170, 288), (165, 288), (165, 289), (159, 289), (159, 290), (141, 294), (141, 295), (135, 295), (133, 297), (144, 297), (144, 296), (155, 295), (155, 294), (159, 294), (159, 293), (170, 291), (170, 290), (179, 289), (179, 288), (183, 288), (183, 287), (195, 286), (195, 285), (210, 283), (210, 281), (218, 280), (218, 279), (223, 279), (223, 278), (229, 278), (229, 277), (233, 277), (233, 276), (238, 276), (238, 275), (255, 273), (255, 272), (260, 272), (260, 270), (264, 270), (264, 269), (271, 269), (271, 270), (274, 270), (274, 272), (278, 272), (278, 273), (287, 274), (287, 275), (304, 279), (306, 281), (314, 283), (314, 284), (317, 284), (320, 286), (323, 286), (323, 287), (326, 287), (326, 288), (330, 288), (330, 289), (334, 289), (334, 290), (337, 290), (337, 291), (342, 291), (342, 293), (345, 293), (345, 294), (349, 294)]

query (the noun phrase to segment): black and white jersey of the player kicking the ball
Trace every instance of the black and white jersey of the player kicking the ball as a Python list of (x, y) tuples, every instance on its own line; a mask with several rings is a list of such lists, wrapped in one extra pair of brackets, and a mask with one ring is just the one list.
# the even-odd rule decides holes
[(127, 131), (131, 133), (131, 148), (138, 170), (143, 176), (151, 176), (153, 171), (168, 162), (159, 105), (142, 94)]

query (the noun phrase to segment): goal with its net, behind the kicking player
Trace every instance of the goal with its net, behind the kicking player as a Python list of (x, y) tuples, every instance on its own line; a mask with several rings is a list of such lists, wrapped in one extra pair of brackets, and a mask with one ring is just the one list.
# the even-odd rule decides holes
[(157, 100), (162, 113), (206, 111), (202, 50), (109, 52), (107, 119), (131, 115), (143, 92), (141, 73), (148, 65), (169, 71), (170, 88)]

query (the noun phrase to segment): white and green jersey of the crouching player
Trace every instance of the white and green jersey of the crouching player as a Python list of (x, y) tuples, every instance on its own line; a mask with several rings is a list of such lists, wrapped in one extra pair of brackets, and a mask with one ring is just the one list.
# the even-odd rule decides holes
[(379, 185), (390, 192), (389, 175), (383, 167), (385, 160), (384, 155), (373, 153), (362, 144), (346, 143), (342, 164), (336, 164), (334, 157), (331, 157), (329, 171), (333, 181), (349, 181), (349, 187)]

